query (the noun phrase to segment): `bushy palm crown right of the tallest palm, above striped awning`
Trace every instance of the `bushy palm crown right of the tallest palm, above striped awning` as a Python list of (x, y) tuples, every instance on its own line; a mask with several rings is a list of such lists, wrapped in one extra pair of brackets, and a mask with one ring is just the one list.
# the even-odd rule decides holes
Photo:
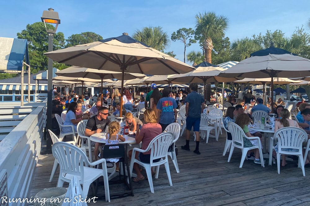
[(244, 38), (237, 39), (232, 42), (232, 59), (234, 61), (241, 61), (250, 57), (250, 54), (259, 51), (262, 48), (257, 42), (252, 39)]

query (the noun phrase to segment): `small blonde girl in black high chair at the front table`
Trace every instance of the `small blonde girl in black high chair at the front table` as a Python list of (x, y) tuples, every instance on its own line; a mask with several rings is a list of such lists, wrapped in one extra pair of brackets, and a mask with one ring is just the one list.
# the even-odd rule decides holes
[[(105, 144), (106, 145), (117, 145), (119, 141), (125, 141), (125, 138), (122, 135), (118, 135), (120, 125), (118, 122), (110, 122), (108, 133), (107, 133), (107, 139)], [(119, 172), (119, 163), (116, 163), (116, 172)]]

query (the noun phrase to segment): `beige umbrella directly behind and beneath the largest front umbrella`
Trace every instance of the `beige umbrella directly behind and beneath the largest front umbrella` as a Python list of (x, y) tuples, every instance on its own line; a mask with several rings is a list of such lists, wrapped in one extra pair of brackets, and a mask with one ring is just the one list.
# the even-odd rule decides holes
[[(91, 78), (91, 79), (101, 79), (101, 99), (103, 99), (103, 82), (104, 79), (121, 79), (122, 72), (115, 72), (109, 70), (102, 70), (102, 69), (91, 69), (85, 67), (78, 67), (78, 66), (70, 66), (66, 69), (60, 70), (56, 72), (58, 76), (63, 77), (82, 77), (82, 78)], [(134, 78), (144, 78), (144, 74), (134, 74), (134, 73), (126, 73), (124, 75), (124, 80), (134, 79)], [(83, 90), (82, 90), (83, 93)]]

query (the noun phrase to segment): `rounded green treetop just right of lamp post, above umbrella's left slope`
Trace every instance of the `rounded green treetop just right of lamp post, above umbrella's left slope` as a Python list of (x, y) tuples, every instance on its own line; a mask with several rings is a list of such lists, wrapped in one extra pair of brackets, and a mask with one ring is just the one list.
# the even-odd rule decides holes
[(73, 34), (66, 39), (67, 44), (65, 48), (80, 45), (80, 44), (87, 44), (94, 41), (99, 41), (103, 39), (102, 36), (96, 34), (94, 32), (82, 32), (81, 34)]

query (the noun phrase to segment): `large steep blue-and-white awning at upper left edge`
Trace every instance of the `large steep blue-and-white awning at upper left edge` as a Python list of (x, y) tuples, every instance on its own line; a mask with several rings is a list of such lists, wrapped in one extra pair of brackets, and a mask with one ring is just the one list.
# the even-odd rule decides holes
[(21, 71), (24, 57), (29, 65), (26, 39), (0, 37), (0, 70)]

